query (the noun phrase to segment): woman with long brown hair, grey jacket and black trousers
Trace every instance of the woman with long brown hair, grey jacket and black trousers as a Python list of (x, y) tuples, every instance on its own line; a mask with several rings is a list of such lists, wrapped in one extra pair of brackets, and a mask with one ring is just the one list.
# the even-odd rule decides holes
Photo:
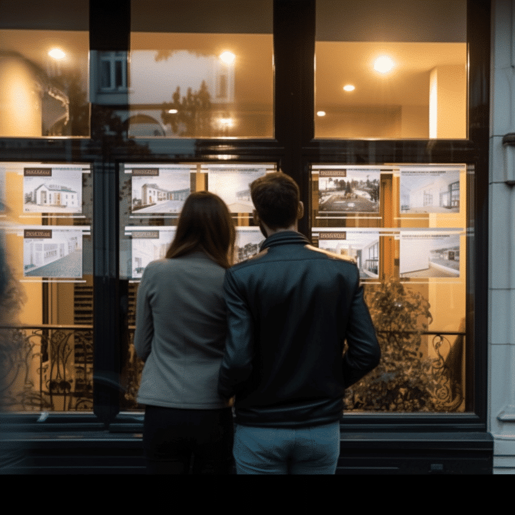
[(192, 193), (165, 259), (143, 273), (134, 347), (145, 361), (138, 402), (145, 404), (143, 447), (148, 474), (228, 474), (231, 408), (218, 396), (224, 354), (225, 269), (235, 229), (227, 205)]

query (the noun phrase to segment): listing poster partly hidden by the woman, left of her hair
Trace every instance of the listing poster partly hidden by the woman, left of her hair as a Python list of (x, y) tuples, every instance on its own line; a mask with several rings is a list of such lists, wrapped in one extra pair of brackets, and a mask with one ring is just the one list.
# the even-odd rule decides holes
[(131, 277), (141, 279), (145, 267), (151, 262), (163, 259), (175, 237), (175, 228), (153, 229), (127, 227), (126, 234), (132, 236)]

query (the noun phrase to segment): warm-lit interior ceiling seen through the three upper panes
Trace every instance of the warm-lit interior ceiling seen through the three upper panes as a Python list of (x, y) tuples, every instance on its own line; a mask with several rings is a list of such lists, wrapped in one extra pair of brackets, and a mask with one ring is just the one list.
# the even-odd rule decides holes
[[(271, 104), (271, 35), (138, 32), (131, 36), (134, 50), (188, 49), (213, 55), (231, 50), (236, 55), (236, 100)], [(0, 48), (14, 50), (44, 70), (52, 62), (47, 54), (54, 46), (67, 54), (61, 61), (63, 68), (87, 66), (87, 31), (0, 30)], [(351, 104), (427, 105), (430, 71), (435, 66), (465, 66), (466, 52), (466, 43), (317, 42), (316, 109)], [(373, 70), (373, 61), (380, 55), (388, 55), (396, 63), (388, 74)], [(347, 83), (354, 84), (355, 91), (343, 91)], [(163, 101), (168, 97), (166, 92)]]

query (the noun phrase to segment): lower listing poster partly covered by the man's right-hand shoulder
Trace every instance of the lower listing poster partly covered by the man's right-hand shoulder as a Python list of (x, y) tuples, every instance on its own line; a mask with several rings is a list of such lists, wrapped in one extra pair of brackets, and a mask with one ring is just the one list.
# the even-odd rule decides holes
[(379, 278), (379, 231), (342, 229), (313, 232), (318, 248), (353, 258), (362, 279)]

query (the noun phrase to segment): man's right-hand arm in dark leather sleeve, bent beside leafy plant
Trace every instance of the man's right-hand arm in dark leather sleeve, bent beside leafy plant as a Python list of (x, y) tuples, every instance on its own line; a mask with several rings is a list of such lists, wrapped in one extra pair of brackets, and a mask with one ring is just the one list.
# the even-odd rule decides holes
[(357, 383), (364, 375), (379, 365), (381, 349), (375, 335), (374, 325), (363, 298), (363, 286), (357, 286), (350, 305), (347, 323), (347, 344), (344, 355), (343, 372), (345, 387)]

